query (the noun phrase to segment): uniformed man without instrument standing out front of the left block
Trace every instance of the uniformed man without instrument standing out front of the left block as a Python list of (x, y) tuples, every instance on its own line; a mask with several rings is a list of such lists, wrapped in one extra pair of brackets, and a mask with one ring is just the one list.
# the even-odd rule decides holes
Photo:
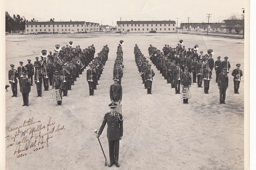
[(27, 74), (23, 73), (22, 78), (20, 79), (20, 86), (21, 90), (20, 92), (22, 93), (22, 98), (23, 98), (23, 105), (22, 106), (28, 106), (28, 94), (30, 93), (30, 79), (26, 78)]

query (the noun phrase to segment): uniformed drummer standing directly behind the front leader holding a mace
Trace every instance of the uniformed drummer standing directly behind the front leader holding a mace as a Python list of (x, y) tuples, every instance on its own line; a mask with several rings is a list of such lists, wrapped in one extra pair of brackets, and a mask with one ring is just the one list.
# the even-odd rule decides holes
[(117, 78), (113, 78), (114, 84), (110, 86), (109, 94), (111, 102), (121, 102), (122, 101), (122, 86), (117, 83)]

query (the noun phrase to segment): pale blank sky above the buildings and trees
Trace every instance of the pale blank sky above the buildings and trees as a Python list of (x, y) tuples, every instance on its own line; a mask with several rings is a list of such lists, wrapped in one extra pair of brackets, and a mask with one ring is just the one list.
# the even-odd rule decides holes
[(86, 21), (114, 25), (116, 21), (175, 20), (222, 22), (232, 15), (241, 18), (248, 0), (8, 0), (6, 11), (27, 20)]

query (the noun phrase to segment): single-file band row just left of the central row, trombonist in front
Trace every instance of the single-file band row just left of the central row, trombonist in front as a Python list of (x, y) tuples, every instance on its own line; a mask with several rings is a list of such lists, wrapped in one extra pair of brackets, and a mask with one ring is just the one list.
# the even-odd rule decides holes
[(103, 46), (102, 50), (98, 53), (98, 57), (95, 57), (89, 69), (86, 71), (86, 79), (89, 85), (89, 96), (94, 96), (94, 90), (97, 90), (98, 80), (100, 80), (102, 71), (108, 60), (109, 48), (108, 45)]

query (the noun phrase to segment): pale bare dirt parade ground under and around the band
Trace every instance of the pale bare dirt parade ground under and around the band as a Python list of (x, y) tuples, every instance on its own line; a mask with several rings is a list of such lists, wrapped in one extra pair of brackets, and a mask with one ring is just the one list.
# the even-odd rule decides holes
[[(192, 83), (189, 104), (183, 104), (171, 84), (152, 67), (156, 75), (152, 94), (144, 89), (134, 61), (137, 43), (149, 59), (149, 44), (162, 50), (164, 44), (176, 47), (180, 39), (188, 49), (199, 44), (205, 54), (213, 49), (214, 61), (221, 56), (231, 63), (227, 104), (219, 104), (219, 89), (213, 72), (210, 94)], [(72, 91), (63, 97), (62, 106), (52, 100), (52, 90), (36, 97), (36, 86), (29, 93), (29, 107), (22, 107), (22, 96), (6, 97), (6, 169), (68, 170), (118, 169), (104, 166), (94, 129), (101, 126), (109, 112), (109, 88), (116, 50), (124, 40), (124, 77), (122, 78), (122, 113), (124, 136), (120, 141), (119, 163), (123, 170), (241, 170), (244, 169), (244, 77), (240, 94), (234, 94), (231, 72), (236, 64), (244, 70), (244, 40), (190, 34), (77, 34), (77, 35), (15, 35), (6, 36), (6, 84), (10, 64), (19, 66), (40, 56), (43, 49), (54, 50), (55, 44), (65, 46), (73, 41), (82, 49), (94, 44), (96, 54), (103, 45), (110, 49), (94, 96), (89, 96), (86, 74), (77, 78)], [(88, 67), (86, 67), (87, 69)], [(85, 70), (86, 71), (86, 70)], [(19, 86), (18, 86), (19, 89)], [(106, 125), (107, 126), (107, 125)], [(107, 127), (100, 141), (109, 162)]]

